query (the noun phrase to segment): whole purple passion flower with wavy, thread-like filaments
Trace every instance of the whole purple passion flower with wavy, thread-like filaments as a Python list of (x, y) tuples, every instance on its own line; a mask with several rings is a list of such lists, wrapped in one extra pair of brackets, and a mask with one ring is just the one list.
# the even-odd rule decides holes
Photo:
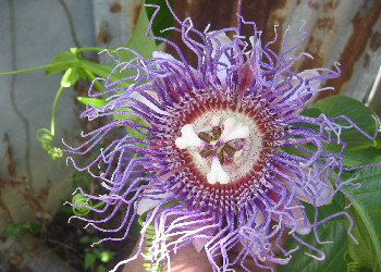
[[(260, 32), (242, 18), (239, 5), (237, 27), (214, 32), (199, 32), (189, 18), (180, 21), (171, 10), (180, 24), (173, 30), (195, 52), (196, 67), (177, 45), (152, 37), (172, 46), (180, 60), (163, 52), (144, 59), (120, 48), (135, 58), (119, 60), (108, 52), (115, 69), (108, 78), (98, 78), (105, 91), (89, 90), (90, 97), (109, 99), (100, 107), (89, 103), (82, 118), (118, 114), (119, 119), (83, 134), (89, 139), (72, 152), (90, 152), (120, 126), (128, 134), (101, 149), (85, 168), (76, 166), (90, 173), (93, 168), (101, 169), (102, 174), (93, 175), (102, 180), (108, 191), (91, 196), (81, 190), (91, 201), (106, 203), (101, 209), (87, 206), (106, 214), (105, 219), (81, 219), (103, 232), (122, 232), (121, 237), (108, 238), (121, 240), (133, 220), (144, 214), (138, 251), (119, 265), (144, 251), (150, 226), (155, 227), (149, 248), (152, 269), (189, 243), (206, 251), (213, 271), (244, 265), (246, 258), (265, 268), (269, 268), (265, 261), (285, 264), (293, 250), (280, 245), (284, 235), (317, 251), (319, 257), (314, 258), (323, 259), (323, 252), (303, 242), (303, 235), (347, 214), (343, 211), (323, 221), (316, 217), (310, 222), (304, 208), (304, 202), (329, 203), (344, 184), (340, 181), (342, 151), (324, 147), (335, 141), (344, 150), (340, 133), (346, 127), (324, 114), (299, 114), (314, 95), (329, 89), (320, 83), (337, 77), (339, 64), (334, 70), (293, 72), (295, 61), (311, 58), (307, 53), (290, 58), (307, 36), (303, 28), (304, 38), (295, 47), (282, 46), (275, 53), (269, 48), (274, 41), (262, 45)], [(251, 26), (253, 36), (242, 36), (242, 25)], [(122, 206), (126, 215), (121, 225), (103, 230), (101, 224)], [(228, 252), (235, 246), (242, 249), (231, 259)], [(275, 247), (284, 258), (276, 256)]]

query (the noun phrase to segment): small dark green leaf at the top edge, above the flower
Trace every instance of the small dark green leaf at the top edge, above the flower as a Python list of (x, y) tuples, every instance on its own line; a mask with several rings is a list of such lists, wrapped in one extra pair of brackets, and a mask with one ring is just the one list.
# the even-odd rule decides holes
[[(165, 1), (146, 0), (145, 3), (160, 5), (160, 10), (153, 20), (152, 33), (156, 37), (167, 38), (171, 32), (164, 30), (164, 29), (173, 26), (174, 17), (170, 12), (170, 10), (168, 9)], [(169, 0), (169, 3), (171, 7), (173, 7), (173, 0)], [(155, 11), (156, 11), (155, 8), (146, 7), (146, 12), (149, 20), (152, 17)], [(160, 45), (160, 44), (161, 44), (160, 40), (156, 40), (156, 45)]]

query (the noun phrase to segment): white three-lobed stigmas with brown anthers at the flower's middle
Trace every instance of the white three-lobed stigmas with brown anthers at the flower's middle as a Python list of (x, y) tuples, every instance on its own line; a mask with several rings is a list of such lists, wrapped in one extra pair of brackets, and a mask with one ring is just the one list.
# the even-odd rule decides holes
[(175, 138), (175, 147), (193, 157), (209, 184), (233, 182), (237, 164), (244, 162), (243, 141), (250, 137), (246, 120), (238, 120), (235, 114), (226, 115), (208, 115), (185, 124), (181, 136)]

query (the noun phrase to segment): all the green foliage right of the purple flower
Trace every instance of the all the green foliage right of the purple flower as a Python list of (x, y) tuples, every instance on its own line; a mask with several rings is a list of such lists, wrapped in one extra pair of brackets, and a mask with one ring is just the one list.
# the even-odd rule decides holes
[[(333, 96), (318, 101), (310, 109), (306, 109), (302, 114), (318, 118), (324, 113), (329, 119), (345, 115), (351, 119), (359, 128), (368, 135), (373, 136), (378, 119), (377, 115), (359, 101), (349, 97)], [(367, 165), (369, 163), (381, 163), (380, 135), (371, 140), (359, 133), (355, 127), (344, 120), (337, 120), (337, 124), (347, 126), (342, 129), (340, 139), (346, 143), (346, 149), (342, 154), (343, 164), (346, 168)], [(308, 124), (300, 124), (310, 128), (318, 127)], [(331, 134), (332, 135), (332, 134)], [(333, 139), (337, 139), (333, 137)], [(314, 150), (311, 145), (304, 145)], [(342, 146), (331, 143), (324, 144), (324, 148), (340, 152)], [(290, 152), (302, 151), (286, 149)], [(348, 221), (341, 219), (331, 220), (318, 227), (319, 237), (322, 240), (332, 240), (332, 244), (320, 245), (315, 240), (314, 234), (309, 234), (303, 239), (314, 247), (321, 249), (325, 254), (324, 261), (316, 261), (304, 256), (308, 248), (293, 255), (290, 264), (280, 267), (279, 271), (380, 271), (381, 263), (381, 168), (365, 168), (354, 172), (344, 171), (342, 181), (353, 180), (354, 183), (361, 184), (356, 189), (353, 186), (346, 186), (345, 189), (353, 197), (353, 207), (347, 210), (354, 220), (352, 234), (357, 239), (358, 245), (346, 234)], [(342, 197), (341, 197), (342, 198)], [(346, 199), (346, 205), (349, 199)], [(305, 205), (309, 220), (314, 219), (312, 208)], [(334, 208), (332, 210), (332, 208)], [(335, 196), (333, 203), (319, 208), (320, 215), (329, 215), (344, 210), (344, 201), (340, 196)], [(297, 242), (290, 239), (287, 248), (297, 246)], [(348, 258), (344, 260), (344, 254), (347, 251)], [(296, 261), (295, 261), (296, 260)]]

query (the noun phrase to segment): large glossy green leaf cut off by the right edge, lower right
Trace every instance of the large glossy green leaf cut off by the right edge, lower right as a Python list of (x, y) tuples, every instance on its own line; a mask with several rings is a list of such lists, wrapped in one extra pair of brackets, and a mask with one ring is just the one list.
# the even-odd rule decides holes
[(351, 214), (355, 222), (354, 235), (359, 246), (349, 243), (349, 256), (357, 263), (380, 271), (381, 268), (381, 156), (371, 163), (379, 166), (360, 169), (349, 178), (361, 184), (358, 189), (346, 186), (353, 197)]

